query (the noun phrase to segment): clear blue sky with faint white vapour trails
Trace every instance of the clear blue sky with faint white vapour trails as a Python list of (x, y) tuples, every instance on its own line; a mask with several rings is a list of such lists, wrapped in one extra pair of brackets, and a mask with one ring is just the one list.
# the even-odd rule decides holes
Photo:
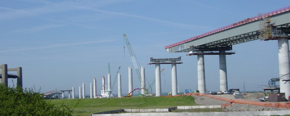
[[(150, 57), (176, 58), (179, 92), (197, 89), (197, 56), (167, 53), (165, 46), (208, 31), (289, 6), (288, 0), (190, 1), (0, 1), (0, 64), (23, 69), (23, 86), (41, 92), (67, 90), (97, 78), (112, 82), (121, 66), (122, 93), (128, 92), (128, 67), (133, 66), (123, 34), (134, 50), (148, 81), (155, 76)], [(227, 56), (228, 88), (262, 91), (279, 76), (277, 41), (251, 41), (233, 46)], [(125, 49), (123, 47), (125, 46)], [(140, 68), (140, 67), (139, 67)], [(161, 76), (162, 92), (171, 92), (171, 65)], [(16, 72), (9, 72), (16, 73)], [(205, 56), (206, 88), (219, 91), (218, 55)], [(133, 69), (133, 88), (140, 88)], [(9, 79), (8, 85), (12, 86)], [(117, 92), (117, 82), (113, 93)], [(155, 92), (155, 85), (153, 86)], [(136, 94), (137, 92), (135, 92)]]

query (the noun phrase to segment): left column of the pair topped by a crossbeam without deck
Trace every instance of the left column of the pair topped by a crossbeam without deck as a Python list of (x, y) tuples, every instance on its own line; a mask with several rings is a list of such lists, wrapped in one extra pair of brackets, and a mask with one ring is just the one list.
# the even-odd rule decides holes
[(159, 61), (155, 64), (155, 82), (156, 82), (156, 96), (161, 96), (161, 75)]

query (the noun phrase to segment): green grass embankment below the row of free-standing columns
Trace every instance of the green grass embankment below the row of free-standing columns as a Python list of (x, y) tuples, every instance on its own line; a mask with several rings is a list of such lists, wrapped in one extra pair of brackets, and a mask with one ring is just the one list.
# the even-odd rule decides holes
[[(79, 101), (80, 100), (80, 101)], [(131, 97), (131, 98), (93, 98), (93, 99), (53, 99), (55, 106), (62, 103), (74, 108), (74, 115), (90, 116), (92, 113), (119, 109), (153, 109), (170, 108), (175, 106), (196, 105), (191, 96), (180, 97)]]

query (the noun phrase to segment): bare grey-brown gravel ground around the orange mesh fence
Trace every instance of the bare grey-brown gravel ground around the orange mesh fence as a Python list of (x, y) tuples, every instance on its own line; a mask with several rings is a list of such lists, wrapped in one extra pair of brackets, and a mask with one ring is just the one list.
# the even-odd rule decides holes
[[(225, 98), (235, 99), (234, 95), (215, 95)], [(243, 100), (259, 101), (259, 98), (262, 98), (264, 93), (247, 93)], [(228, 103), (227, 101), (221, 101), (214, 98), (209, 98), (206, 96), (195, 96), (195, 103), (198, 105), (224, 105)], [(269, 102), (269, 101), (266, 101)], [(266, 107), (266, 106), (257, 106), (257, 105), (247, 105), (247, 104), (237, 104), (233, 103), (231, 106), (225, 107), (224, 111), (277, 111), (277, 110), (289, 110), (288, 108), (276, 108), (276, 107)]]

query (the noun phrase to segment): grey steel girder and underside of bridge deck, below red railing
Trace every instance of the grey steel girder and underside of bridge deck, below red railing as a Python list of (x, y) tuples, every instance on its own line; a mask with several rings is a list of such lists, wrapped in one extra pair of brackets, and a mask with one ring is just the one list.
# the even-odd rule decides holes
[[(290, 11), (271, 16), (272, 23), (274, 27), (290, 27)], [(288, 33), (288, 32), (286, 32)], [(290, 32), (289, 32), (290, 33)], [(289, 34), (288, 33), (288, 34)], [(170, 47), (166, 49), (169, 53), (174, 52), (190, 52), (193, 49), (202, 48), (218, 48), (218, 47), (229, 47), (235, 44), (244, 43), (248, 41), (258, 40), (259, 38), (259, 20), (249, 22), (247, 24), (239, 25), (237, 27), (232, 27), (230, 29), (217, 32), (214, 34), (207, 35), (189, 42)], [(289, 35), (286, 35), (289, 37)], [(275, 40), (281, 36), (273, 35), (270, 39), (265, 40)], [(214, 50), (214, 49), (211, 49)], [(218, 50), (216, 50), (218, 51)]]

